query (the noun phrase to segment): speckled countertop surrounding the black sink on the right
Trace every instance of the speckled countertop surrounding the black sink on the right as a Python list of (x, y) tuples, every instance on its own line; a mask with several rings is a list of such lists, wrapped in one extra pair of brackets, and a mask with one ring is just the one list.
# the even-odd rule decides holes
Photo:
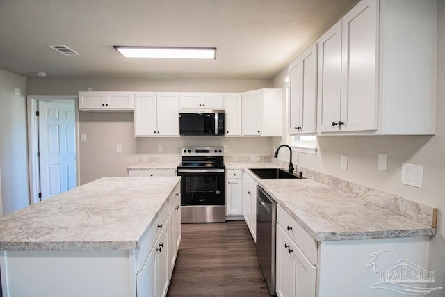
[[(228, 169), (275, 167), (226, 163)], [(435, 235), (435, 228), (312, 179), (259, 179), (245, 170), (317, 241)]]

